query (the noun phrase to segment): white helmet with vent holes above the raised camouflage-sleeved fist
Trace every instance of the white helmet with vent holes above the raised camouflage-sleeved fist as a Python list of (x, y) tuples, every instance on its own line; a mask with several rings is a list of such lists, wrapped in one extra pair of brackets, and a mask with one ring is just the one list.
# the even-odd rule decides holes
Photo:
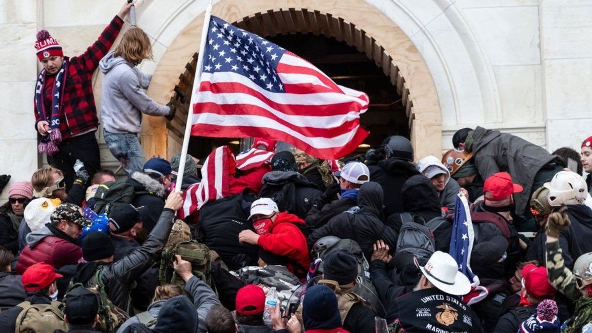
[(549, 189), (549, 204), (583, 204), (588, 195), (588, 187), (584, 178), (573, 171), (559, 171), (551, 182), (546, 182)]

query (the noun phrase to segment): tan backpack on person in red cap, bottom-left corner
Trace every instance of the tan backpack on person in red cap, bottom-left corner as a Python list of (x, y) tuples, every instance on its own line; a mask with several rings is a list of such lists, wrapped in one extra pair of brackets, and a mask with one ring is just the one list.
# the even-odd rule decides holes
[(53, 333), (55, 329), (68, 330), (62, 315), (63, 304), (60, 302), (31, 304), (25, 301), (17, 306), (20, 306), (22, 311), (17, 316), (16, 333)]

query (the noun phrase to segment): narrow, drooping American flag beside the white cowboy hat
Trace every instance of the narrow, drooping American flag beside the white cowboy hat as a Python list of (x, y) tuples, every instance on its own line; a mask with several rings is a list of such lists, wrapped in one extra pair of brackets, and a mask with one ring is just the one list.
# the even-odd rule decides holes
[(450, 255), (456, 260), (458, 270), (471, 281), (471, 292), (463, 297), (468, 305), (479, 302), (487, 297), (489, 290), (480, 286), (479, 277), (471, 270), (471, 251), (475, 240), (475, 231), (471, 220), (469, 203), (464, 194), (459, 193), (454, 207), (454, 222), (450, 241)]

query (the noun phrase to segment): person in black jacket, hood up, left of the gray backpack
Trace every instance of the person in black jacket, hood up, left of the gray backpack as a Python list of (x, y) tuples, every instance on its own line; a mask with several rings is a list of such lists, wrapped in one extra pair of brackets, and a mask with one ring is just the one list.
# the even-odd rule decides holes
[(312, 248), (311, 245), (324, 236), (337, 236), (356, 241), (366, 258), (371, 257), (372, 245), (378, 239), (382, 239), (391, 249), (397, 248), (397, 232), (382, 222), (383, 196), (382, 187), (376, 182), (363, 184), (358, 194), (358, 208), (353, 207), (348, 212), (334, 216), (326, 225), (311, 233), (308, 237), (309, 247)]

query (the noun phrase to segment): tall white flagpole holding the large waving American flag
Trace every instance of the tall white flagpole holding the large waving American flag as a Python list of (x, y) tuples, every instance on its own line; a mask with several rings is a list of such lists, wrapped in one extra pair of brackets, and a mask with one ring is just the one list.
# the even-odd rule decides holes
[[(205, 8), (204, 26), (201, 28), (200, 53), (197, 57), (197, 65), (195, 65), (195, 78), (193, 81), (193, 91), (200, 89), (201, 82), (201, 68), (204, 65), (204, 50), (205, 43), (208, 39), (208, 30), (210, 29), (210, 16), (212, 11), (212, 0)], [(185, 124), (185, 136), (183, 137), (183, 148), (181, 149), (181, 158), (179, 159), (179, 171), (177, 172), (177, 182), (175, 184), (175, 191), (181, 191), (181, 184), (183, 182), (183, 174), (185, 173), (185, 159), (187, 158), (187, 149), (189, 148), (189, 137), (191, 136), (191, 125), (193, 123), (193, 104), (197, 92), (191, 94), (191, 101), (189, 102), (189, 111), (187, 113), (187, 123)]]

